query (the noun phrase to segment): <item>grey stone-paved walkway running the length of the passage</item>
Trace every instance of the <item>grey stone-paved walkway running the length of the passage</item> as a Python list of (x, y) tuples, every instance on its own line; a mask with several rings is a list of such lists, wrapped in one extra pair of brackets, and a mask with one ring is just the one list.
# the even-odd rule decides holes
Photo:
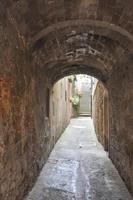
[(90, 118), (72, 119), (26, 200), (133, 200)]

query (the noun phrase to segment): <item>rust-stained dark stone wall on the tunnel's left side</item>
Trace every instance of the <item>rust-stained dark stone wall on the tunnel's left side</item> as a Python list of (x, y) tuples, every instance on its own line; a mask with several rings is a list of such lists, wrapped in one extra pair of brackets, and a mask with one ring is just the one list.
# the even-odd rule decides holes
[[(0, 25), (1, 200), (23, 199), (59, 137), (53, 139), (46, 116), (51, 85), (45, 72), (31, 64), (24, 43), (8, 21)], [(55, 119), (55, 124), (58, 122)]]

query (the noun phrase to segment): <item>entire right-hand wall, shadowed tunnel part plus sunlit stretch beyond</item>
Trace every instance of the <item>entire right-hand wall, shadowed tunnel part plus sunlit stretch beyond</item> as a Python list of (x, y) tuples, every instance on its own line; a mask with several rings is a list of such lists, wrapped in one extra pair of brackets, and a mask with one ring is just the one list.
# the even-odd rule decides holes
[(109, 97), (103, 85), (97, 83), (93, 96), (93, 121), (99, 141), (109, 151), (111, 160), (133, 193), (132, 77), (130, 58), (110, 77)]

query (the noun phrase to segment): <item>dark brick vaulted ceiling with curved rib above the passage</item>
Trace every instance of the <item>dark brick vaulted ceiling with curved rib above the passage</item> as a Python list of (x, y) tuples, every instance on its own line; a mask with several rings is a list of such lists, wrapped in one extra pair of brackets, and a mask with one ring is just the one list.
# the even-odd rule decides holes
[(18, 0), (7, 15), (52, 82), (87, 73), (106, 82), (133, 53), (132, 0)]

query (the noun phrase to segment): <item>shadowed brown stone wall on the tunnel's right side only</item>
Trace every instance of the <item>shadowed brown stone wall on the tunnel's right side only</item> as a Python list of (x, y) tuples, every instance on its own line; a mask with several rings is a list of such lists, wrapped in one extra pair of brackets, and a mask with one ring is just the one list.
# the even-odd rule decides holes
[[(133, 59), (112, 74), (110, 95), (110, 157), (133, 193)], [(116, 87), (117, 86), (117, 87)]]

